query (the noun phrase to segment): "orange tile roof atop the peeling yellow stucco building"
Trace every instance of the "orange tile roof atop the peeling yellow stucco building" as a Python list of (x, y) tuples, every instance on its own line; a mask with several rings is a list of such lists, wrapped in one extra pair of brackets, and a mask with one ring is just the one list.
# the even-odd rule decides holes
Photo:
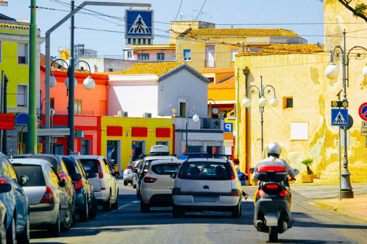
[(290, 53), (317, 53), (324, 48), (317, 44), (273, 44), (264, 47), (258, 52), (240, 53), (236, 56), (266, 55), (266, 54), (290, 54)]

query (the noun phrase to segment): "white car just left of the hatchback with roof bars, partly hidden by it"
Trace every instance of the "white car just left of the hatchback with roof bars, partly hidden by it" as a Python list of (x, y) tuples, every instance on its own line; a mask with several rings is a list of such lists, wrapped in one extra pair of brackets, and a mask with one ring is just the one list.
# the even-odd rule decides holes
[(175, 179), (171, 175), (177, 173), (183, 160), (153, 161), (144, 176), (140, 187), (140, 212), (150, 211), (150, 207), (172, 206), (172, 188)]

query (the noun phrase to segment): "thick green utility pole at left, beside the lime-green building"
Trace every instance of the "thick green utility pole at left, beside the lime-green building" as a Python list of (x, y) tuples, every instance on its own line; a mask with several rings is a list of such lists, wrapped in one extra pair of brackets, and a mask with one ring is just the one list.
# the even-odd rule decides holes
[[(27, 153), (37, 153), (37, 26), (36, 0), (31, 0), (29, 26), (29, 102), (27, 125)], [(47, 63), (46, 63), (47, 66)]]

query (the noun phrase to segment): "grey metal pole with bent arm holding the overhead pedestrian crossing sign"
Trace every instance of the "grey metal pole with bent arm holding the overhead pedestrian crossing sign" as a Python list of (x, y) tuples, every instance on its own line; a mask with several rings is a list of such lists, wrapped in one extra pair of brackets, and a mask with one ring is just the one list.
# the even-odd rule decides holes
[[(33, 0), (32, 0), (33, 1)], [(34, 0), (35, 1), (35, 0)], [(45, 117), (46, 117), (46, 129), (50, 128), (50, 38), (51, 33), (56, 30), (60, 25), (65, 23), (65, 21), (69, 20), (72, 16), (74, 16), (77, 12), (82, 10), (87, 5), (93, 5), (93, 6), (118, 6), (118, 7), (146, 7), (150, 8), (152, 4), (150, 3), (124, 3), (124, 2), (99, 2), (99, 1), (84, 1), (82, 4), (77, 6), (74, 11), (71, 11), (67, 16), (65, 16), (63, 19), (61, 19), (59, 22), (57, 22), (54, 26), (52, 26), (49, 30), (46, 31), (46, 77), (45, 77), (45, 96), (46, 96), (46, 111), (45, 111)], [(71, 50), (73, 48), (70, 48), (70, 54)], [(71, 56), (71, 55), (70, 55)], [(72, 69), (74, 69), (74, 66), (72, 66)], [(74, 77), (69, 77), (69, 85), (74, 82)], [(70, 96), (70, 95), (69, 95)], [(30, 99), (30, 98), (29, 98)], [(74, 102), (72, 102), (72, 106)], [(72, 119), (74, 119), (74, 114), (72, 114)], [(29, 124), (28, 124), (29, 125)], [(29, 130), (28, 130), (29, 131)], [(70, 131), (70, 137), (74, 138), (74, 133), (71, 133)], [(71, 139), (70, 139), (71, 140)], [(74, 141), (74, 139), (72, 139)], [(50, 137), (46, 136), (46, 142), (45, 142), (45, 152), (50, 153)]]

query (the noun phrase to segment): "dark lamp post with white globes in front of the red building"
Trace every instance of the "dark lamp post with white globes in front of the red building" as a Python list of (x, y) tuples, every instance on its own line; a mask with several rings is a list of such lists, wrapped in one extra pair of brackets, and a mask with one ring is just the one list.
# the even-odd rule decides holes
[[(67, 87), (68, 91), (69, 91), (69, 104), (68, 104), (68, 127), (69, 127), (69, 130), (70, 130), (70, 135), (68, 137), (68, 150), (67, 150), (67, 153), (69, 154), (70, 152), (73, 152), (74, 151), (74, 96), (73, 94), (71, 93), (71, 87), (76, 87), (77, 85), (77, 81), (74, 77), (74, 82), (69, 82), (71, 79), (69, 79), (71, 77), (71, 73), (73, 72), (70, 72), (70, 67), (71, 65), (69, 65), (65, 60), (63, 59), (56, 59), (54, 61), (52, 61), (51, 63), (51, 67), (52, 65), (54, 64), (54, 62), (56, 61), (63, 61), (65, 62), (66, 66), (68, 67), (68, 77), (65, 79), (65, 86)], [(84, 61), (84, 60), (80, 60), (80, 61), (77, 61), (74, 66), (76, 66), (79, 62), (83, 62), (83, 63), (86, 63), (87, 66), (88, 66), (88, 71), (89, 71), (89, 75), (88, 77), (83, 81), (83, 86), (84, 88), (86, 88), (87, 90), (92, 90), (95, 86), (95, 81), (92, 79), (91, 77), (91, 66), (89, 65), (88, 62)], [(83, 70), (83, 67), (81, 68)], [(56, 79), (55, 77), (50, 74), (50, 87), (53, 87), (56, 85)], [(46, 78), (45, 78), (45, 82), (46, 82)], [(67, 92), (67, 96), (68, 96), (68, 92)], [(52, 124), (51, 124), (52, 125)], [(52, 143), (50, 143), (52, 144)], [(46, 145), (46, 146), (50, 146), (49, 144)], [(49, 151), (51, 148), (48, 148)]]

